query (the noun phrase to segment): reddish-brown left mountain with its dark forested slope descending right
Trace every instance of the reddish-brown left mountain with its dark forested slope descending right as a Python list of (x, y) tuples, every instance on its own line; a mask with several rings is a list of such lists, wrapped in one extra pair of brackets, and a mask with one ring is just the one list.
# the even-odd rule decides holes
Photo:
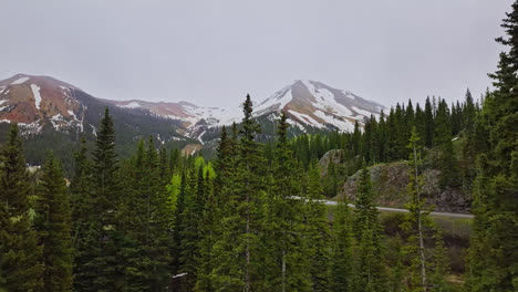
[(114, 106), (84, 91), (46, 76), (18, 74), (0, 81), (0, 143), (9, 125), (18, 123), (24, 138), (25, 158), (41, 165), (53, 150), (70, 168), (80, 137), (95, 140), (99, 123), (108, 106), (115, 121), (117, 150), (128, 155), (139, 138), (152, 136), (157, 144), (183, 147), (193, 139), (177, 132), (182, 124), (145, 109)]

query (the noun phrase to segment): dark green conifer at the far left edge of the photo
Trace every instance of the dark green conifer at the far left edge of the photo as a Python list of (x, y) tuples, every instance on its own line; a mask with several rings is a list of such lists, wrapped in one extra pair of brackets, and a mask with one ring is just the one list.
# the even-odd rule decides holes
[(33, 229), (34, 209), (18, 125), (11, 125), (0, 153), (0, 288), (7, 291), (43, 289), (42, 249)]

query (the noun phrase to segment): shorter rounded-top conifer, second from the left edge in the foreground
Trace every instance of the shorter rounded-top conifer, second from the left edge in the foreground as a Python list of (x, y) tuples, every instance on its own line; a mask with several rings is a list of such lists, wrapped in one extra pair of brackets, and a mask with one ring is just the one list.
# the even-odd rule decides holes
[(43, 291), (71, 291), (71, 210), (61, 164), (51, 153), (38, 185), (38, 232), (43, 247)]

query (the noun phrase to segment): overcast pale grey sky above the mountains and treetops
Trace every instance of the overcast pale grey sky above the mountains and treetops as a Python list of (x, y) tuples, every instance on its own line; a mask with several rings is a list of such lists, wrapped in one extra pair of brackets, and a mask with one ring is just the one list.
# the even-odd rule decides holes
[(490, 85), (511, 0), (0, 0), (0, 79), (235, 106), (297, 79), (392, 105)]

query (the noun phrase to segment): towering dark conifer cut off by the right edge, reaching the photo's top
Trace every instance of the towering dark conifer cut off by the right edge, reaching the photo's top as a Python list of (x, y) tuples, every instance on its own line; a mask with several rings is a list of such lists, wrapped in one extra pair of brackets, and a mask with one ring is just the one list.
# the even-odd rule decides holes
[(507, 36), (500, 53), (493, 97), (485, 101), (489, 150), (478, 156), (474, 182), (475, 213), (468, 264), (468, 291), (518, 289), (518, 1), (501, 27)]

